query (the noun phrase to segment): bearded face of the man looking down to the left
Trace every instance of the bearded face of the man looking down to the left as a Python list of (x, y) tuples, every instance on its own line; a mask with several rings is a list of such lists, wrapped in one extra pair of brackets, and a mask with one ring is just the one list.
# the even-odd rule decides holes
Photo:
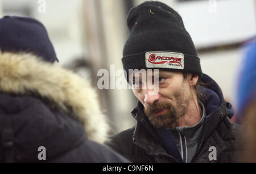
[[(158, 76), (158, 79), (155, 79), (155, 76)], [(135, 81), (135, 77), (139, 77), (139, 82)], [(156, 75), (152, 71), (152, 83), (158, 80), (158, 92), (154, 95), (150, 95), (154, 88), (143, 82), (145, 80), (142, 75), (133, 74), (130, 80), (134, 95), (144, 105), (144, 112), (157, 128), (173, 128), (177, 118), (187, 112), (191, 90), (182, 73), (160, 70)]]

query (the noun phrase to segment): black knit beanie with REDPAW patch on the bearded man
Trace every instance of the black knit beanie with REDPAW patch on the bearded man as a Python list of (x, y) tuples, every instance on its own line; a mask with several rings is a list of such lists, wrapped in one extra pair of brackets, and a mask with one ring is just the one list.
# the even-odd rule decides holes
[(129, 11), (123, 69), (159, 69), (202, 75), (200, 59), (181, 16), (162, 2), (147, 1)]

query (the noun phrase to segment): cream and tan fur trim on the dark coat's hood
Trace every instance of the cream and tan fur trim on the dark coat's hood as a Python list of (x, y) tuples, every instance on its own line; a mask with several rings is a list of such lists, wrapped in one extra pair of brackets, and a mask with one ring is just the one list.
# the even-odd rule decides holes
[(109, 127), (96, 92), (71, 71), (43, 62), (32, 54), (0, 51), (0, 91), (14, 94), (33, 91), (64, 111), (71, 107), (82, 120), (89, 139), (98, 143), (106, 140)]

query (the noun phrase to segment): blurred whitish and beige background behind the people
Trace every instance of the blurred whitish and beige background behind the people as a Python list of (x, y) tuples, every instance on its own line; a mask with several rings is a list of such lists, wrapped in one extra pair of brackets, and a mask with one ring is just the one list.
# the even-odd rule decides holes
[[(128, 36), (126, 16), (142, 0), (0, 0), (0, 16), (20, 15), (46, 26), (60, 66), (90, 80), (112, 133), (135, 125), (130, 111), (137, 105), (131, 90), (100, 90), (100, 69), (122, 69)], [(242, 45), (256, 35), (254, 0), (165, 0), (183, 18), (201, 59), (203, 73), (221, 87), (236, 111), (236, 82)], [(120, 76), (119, 76), (120, 77)], [(234, 120), (234, 119), (233, 119)]]

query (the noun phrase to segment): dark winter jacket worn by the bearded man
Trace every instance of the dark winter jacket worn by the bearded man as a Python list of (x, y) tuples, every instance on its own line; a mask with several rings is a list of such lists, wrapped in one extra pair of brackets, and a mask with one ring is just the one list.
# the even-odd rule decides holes
[[(210, 82), (210, 86), (201, 87), (206, 116), (191, 162), (234, 162), (240, 146), (237, 139), (239, 126), (230, 121), (234, 114), (232, 105), (224, 100), (220, 87), (210, 77), (204, 74), (201, 80)], [(112, 135), (106, 143), (108, 146), (132, 162), (183, 162), (171, 131), (163, 136), (162, 130), (152, 126), (140, 102), (131, 113), (137, 125)], [(216, 160), (211, 158), (211, 146), (216, 147)]]

